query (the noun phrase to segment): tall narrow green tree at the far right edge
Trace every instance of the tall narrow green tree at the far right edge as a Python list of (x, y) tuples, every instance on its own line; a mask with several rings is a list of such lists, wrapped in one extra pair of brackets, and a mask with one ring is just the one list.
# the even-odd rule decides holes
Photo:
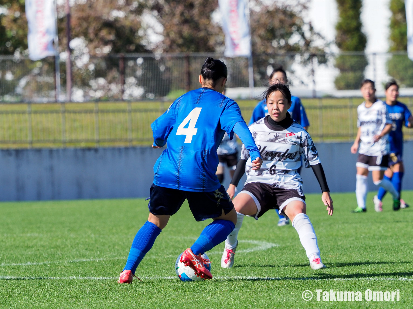
[[(407, 51), (407, 23), (404, 0), (390, 0), (390, 52)], [(407, 54), (393, 54), (387, 61), (387, 73), (401, 87), (413, 87), (413, 61)]]

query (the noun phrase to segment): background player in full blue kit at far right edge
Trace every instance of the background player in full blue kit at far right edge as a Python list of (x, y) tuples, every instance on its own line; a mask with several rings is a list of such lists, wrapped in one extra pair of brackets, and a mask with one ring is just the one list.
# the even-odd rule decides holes
[[(407, 106), (397, 101), (399, 96), (399, 85), (395, 81), (386, 84), (386, 104), (390, 119), (392, 120), (392, 131), (389, 133), (390, 157), (389, 168), (385, 171), (385, 179), (392, 181), (396, 190), (401, 193), (401, 180), (404, 174), (403, 166), (403, 132), (401, 128), (404, 125), (408, 128), (413, 126), (413, 116)], [(373, 198), (374, 208), (376, 211), (382, 211), (382, 199), (386, 190), (380, 187), (379, 192)], [(400, 199), (400, 208), (406, 208), (403, 199)]]

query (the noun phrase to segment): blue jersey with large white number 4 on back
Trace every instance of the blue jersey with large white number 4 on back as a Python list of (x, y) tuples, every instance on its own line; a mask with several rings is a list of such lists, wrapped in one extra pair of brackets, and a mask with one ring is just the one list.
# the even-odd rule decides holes
[(154, 166), (154, 184), (183, 191), (212, 192), (221, 185), (215, 175), (216, 150), (225, 134), (233, 138), (244, 122), (238, 104), (210, 88), (176, 99), (152, 124), (154, 144), (167, 148)]

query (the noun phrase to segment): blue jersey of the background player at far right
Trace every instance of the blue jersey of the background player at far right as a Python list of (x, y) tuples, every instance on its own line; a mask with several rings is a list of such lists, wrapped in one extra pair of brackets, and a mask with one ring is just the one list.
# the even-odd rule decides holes
[(411, 116), (410, 110), (403, 103), (397, 102), (394, 105), (386, 105), (389, 117), (392, 120), (392, 131), (389, 133), (390, 152), (403, 153), (403, 132), (401, 131), (403, 122), (407, 126), (407, 119)]

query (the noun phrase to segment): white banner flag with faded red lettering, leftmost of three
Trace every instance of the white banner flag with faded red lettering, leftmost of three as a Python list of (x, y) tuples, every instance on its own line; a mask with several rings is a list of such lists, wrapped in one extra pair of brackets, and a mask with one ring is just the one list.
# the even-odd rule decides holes
[(28, 22), (27, 44), (31, 60), (55, 56), (53, 39), (56, 36), (55, 2), (52, 0), (26, 0)]

